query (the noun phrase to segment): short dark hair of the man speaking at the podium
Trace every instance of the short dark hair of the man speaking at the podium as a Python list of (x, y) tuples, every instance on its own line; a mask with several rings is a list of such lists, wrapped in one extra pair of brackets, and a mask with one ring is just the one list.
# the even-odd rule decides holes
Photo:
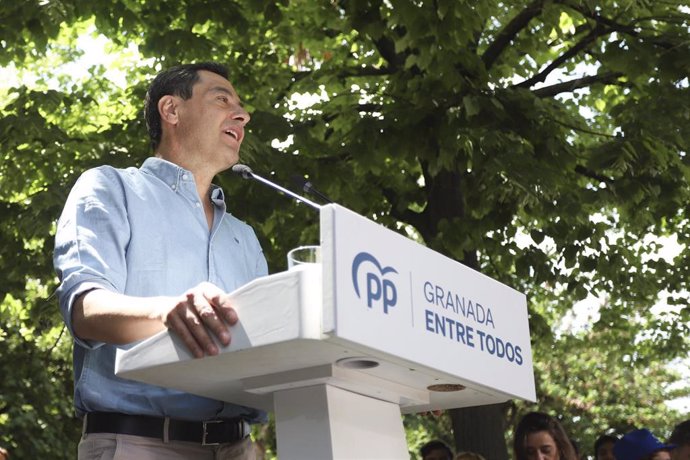
[(215, 62), (200, 62), (171, 67), (156, 75), (151, 82), (144, 101), (144, 117), (154, 151), (161, 142), (162, 134), (158, 101), (167, 95), (180, 96), (182, 99), (192, 97), (194, 84), (199, 81), (199, 70), (207, 70), (225, 79), (228, 78), (228, 69), (225, 66)]

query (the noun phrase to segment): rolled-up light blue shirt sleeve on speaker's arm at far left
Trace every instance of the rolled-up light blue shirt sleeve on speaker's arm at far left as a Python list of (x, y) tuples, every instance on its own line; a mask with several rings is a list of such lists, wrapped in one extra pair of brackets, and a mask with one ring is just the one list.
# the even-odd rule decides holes
[(123, 292), (125, 254), (130, 238), (126, 197), (120, 177), (110, 167), (85, 172), (70, 192), (55, 235), (53, 265), (60, 279), (60, 310), (75, 341), (86, 348), (101, 343), (74, 334), (72, 307), (92, 289)]

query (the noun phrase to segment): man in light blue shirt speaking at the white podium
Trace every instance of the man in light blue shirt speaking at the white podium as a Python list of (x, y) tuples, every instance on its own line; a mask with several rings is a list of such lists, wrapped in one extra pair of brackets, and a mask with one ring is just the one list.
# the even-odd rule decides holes
[[(253, 459), (261, 411), (121, 379), (115, 352), (166, 328), (196, 357), (238, 320), (226, 293), (267, 274), (214, 176), (239, 161), (249, 114), (214, 63), (161, 72), (145, 101), (154, 156), (77, 181), (58, 222), (54, 265), (74, 338), (79, 458)], [(103, 456), (103, 457), (102, 457)]]

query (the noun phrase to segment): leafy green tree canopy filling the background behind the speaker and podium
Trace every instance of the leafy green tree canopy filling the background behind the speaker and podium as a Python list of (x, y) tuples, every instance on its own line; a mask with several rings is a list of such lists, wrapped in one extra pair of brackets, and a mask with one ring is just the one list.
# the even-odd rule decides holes
[[(3, 0), (0, 11), (0, 64), (39, 76), (6, 90), (0, 109), (0, 298), (28, 312), (22, 327), (35, 331), (10, 333), (3, 316), (3, 343), (23, 351), (0, 364), (51, 401), (65, 380), (34, 381), (35, 369), (16, 364), (33, 354), (64, 369), (65, 335), (57, 346), (43, 339), (61, 330), (55, 302), (34, 293), (55, 287), (51, 234), (66, 193), (104, 159), (147, 156), (138, 116), (146, 76), (207, 59), (230, 64), (252, 113), (243, 149), (254, 170), (284, 184), (306, 175), (333, 200), (528, 293), (540, 407), (573, 433), (591, 439), (609, 424), (650, 421), (647, 408), (670, 394), (663, 364), (690, 345), (688, 255), (656, 255), (658, 238), (685, 247), (690, 237), (690, 17), (681, 3)], [(92, 29), (145, 59), (95, 66), (88, 78), (53, 75)], [(111, 83), (117, 67), (126, 89)], [(316, 102), (304, 107), (294, 94)], [(316, 240), (304, 206), (219, 182), (244, 197), (230, 207), (255, 225), (274, 271), (287, 248)], [(607, 299), (598, 316), (584, 331), (559, 332), (589, 294)], [(665, 316), (651, 309), (660, 300)], [(586, 393), (590, 374), (606, 381), (597, 363), (643, 384)], [(644, 398), (647, 408), (636, 407)], [(8, 414), (12, 401), (2, 403)], [(507, 458), (496, 441), (525, 409), (451, 411), (456, 445)], [(64, 404), (53, 414), (71, 420)], [(0, 425), (22, 427), (14, 415)]]

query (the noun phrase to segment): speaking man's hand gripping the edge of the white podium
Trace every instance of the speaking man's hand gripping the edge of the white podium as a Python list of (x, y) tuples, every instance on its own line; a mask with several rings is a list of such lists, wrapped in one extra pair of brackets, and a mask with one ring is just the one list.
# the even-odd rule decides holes
[(211, 283), (201, 283), (190, 289), (177, 299), (172, 309), (162, 314), (163, 323), (197, 358), (218, 354), (211, 334), (223, 346), (230, 344), (230, 326), (237, 323), (237, 319), (227, 294)]

